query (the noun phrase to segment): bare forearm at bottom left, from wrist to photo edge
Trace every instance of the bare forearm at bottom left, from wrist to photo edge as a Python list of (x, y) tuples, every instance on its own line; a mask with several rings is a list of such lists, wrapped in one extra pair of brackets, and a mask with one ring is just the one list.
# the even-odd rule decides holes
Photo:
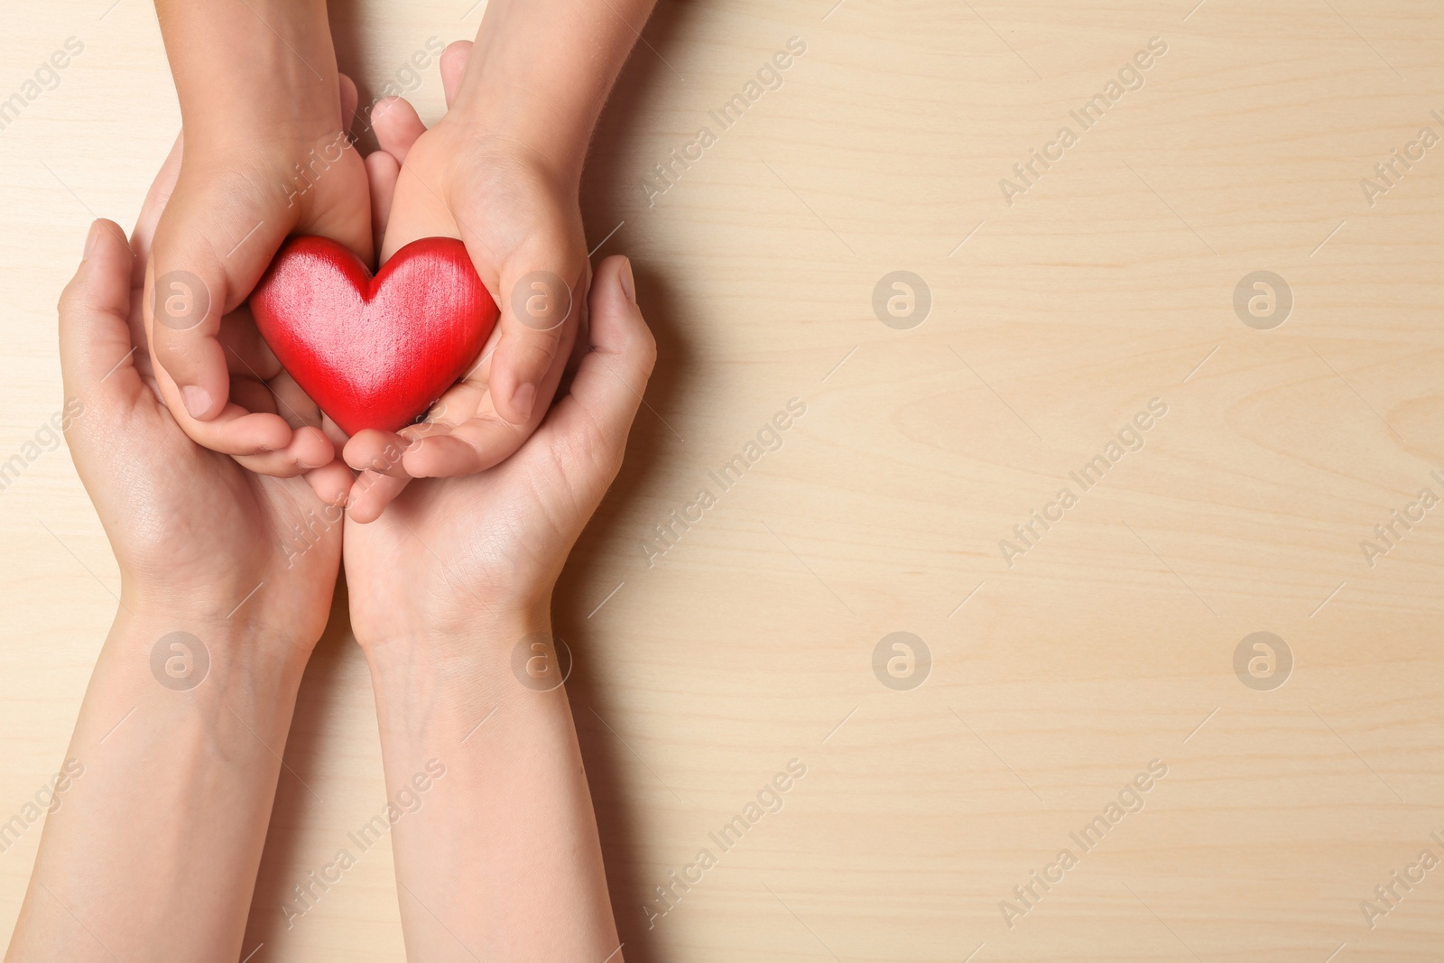
[(240, 959), (303, 667), (221, 619), (121, 611), (6, 960)]

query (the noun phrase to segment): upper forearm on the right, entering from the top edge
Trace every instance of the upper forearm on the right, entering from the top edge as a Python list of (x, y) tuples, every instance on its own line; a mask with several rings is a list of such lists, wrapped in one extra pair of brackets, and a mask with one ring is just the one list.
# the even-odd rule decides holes
[(490, 0), (458, 117), (580, 176), (586, 144), (656, 0)]

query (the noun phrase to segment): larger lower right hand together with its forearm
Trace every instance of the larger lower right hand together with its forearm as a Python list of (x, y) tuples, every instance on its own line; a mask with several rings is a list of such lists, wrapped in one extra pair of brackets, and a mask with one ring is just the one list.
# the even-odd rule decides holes
[[(378, 137), (407, 146), (394, 127)], [(384, 199), (394, 166), (373, 157)], [(549, 608), (621, 466), (656, 342), (627, 258), (596, 269), (589, 308), (567, 393), (514, 455), (413, 481), (368, 524), (355, 517), (358, 505), (380, 511), (367, 485), (397, 479), (367, 472), (352, 488), (351, 627), (371, 668), (387, 785), (414, 801), (391, 830), (409, 959), (622, 959), (570, 706), (547, 674), (559, 666)], [(407, 455), (426, 458), (438, 440)], [(517, 653), (547, 671), (517, 674)]]

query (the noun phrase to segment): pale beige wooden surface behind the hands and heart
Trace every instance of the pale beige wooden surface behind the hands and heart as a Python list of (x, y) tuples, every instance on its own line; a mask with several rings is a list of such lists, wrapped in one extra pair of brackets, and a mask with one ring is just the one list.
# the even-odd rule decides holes
[[(468, 3), (338, 3), (364, 98), (471, 36)], [(1444, 495), (1444, 143), (1392, 186), (1373, 170), (1444, 137), (1444, 10), (1194, 3), (663, 0), (647, 26), (583, 205), (596, 256), (635, 260), (661, 361), (556, 603), (628, 960), (1444, 959), (1444, 868), (1372, 928), (1360, 907), (1444, 859), (1444, 507), (1373, 566), (1360, 547)], [(59, 406), (87, 222), (134, 217), (178, 124), (144, 0), (3, 23), (0, 97), (66, 38), (84, 53), (0, 130), (0, 459)], [(794, 36), (722, 130), (708, 111)], [(1144, 87), (1083, 131), (1069, 111), (1151, 38)], [(435, 69), (413, 97), (439, 114)], [(1061, 126), (1077, 143), (1006, 205)], [(1365, 178), (1389, 186), (1372, 205)], [(872, 308), (894, 270), (931, 293), (908, 329)], [(1294, 299), (1266, 331), (1233, 308), (1256, 270)], [(1147, 445), (1071, 482), (1155, 397)], [(653, 527), (790, 398), (781, 449), (648, 566)], [(1009, 567), (999, 540), (1061, 487), (1077, 504)], [(6, 819), (61, 761), (117, 572), (64, 446), (0, 518)], [(895, 631), (931, 655), (911, 690), (872, 667)], [(1258, 631), (1292, 653), (1272, 690), (1233, 668)], [(794, 758), (722, 853), (708, 833)], [(1152, 759), (1145, 809), (1071, 842)], [(401, 959), (386, 847), (293, 928), (279, 911), (384, 800), (344, 603), (286, 761), (323, 801), (283, 778), (245, 951)], [(38, 839), (0, 853), (6, 930)], [(718, 865), (648, 928), (702, 847)], [(1064, 847), (1009, 927), (999, 901)]]

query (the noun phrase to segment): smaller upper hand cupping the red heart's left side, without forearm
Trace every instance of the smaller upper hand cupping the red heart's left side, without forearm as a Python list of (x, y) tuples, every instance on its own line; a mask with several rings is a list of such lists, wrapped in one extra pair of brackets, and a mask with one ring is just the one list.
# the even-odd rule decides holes
[(367, 263), (373, 254), (365, 166), (344, 120), (357, 107), (355, 84), (341, 75), (316, 97), (329, 100), (264, 130), (202, 127), (189, 137), (140, 299), (156, 383), (176, 423), (205, 448), (253, 456), (248, 468), (277, 476), (331, 462), (335, 445), (319, 422), (257, 409), (231, 390), (241, 358), (225, 316), (243, 308), (289, 234), (329, 237)]

